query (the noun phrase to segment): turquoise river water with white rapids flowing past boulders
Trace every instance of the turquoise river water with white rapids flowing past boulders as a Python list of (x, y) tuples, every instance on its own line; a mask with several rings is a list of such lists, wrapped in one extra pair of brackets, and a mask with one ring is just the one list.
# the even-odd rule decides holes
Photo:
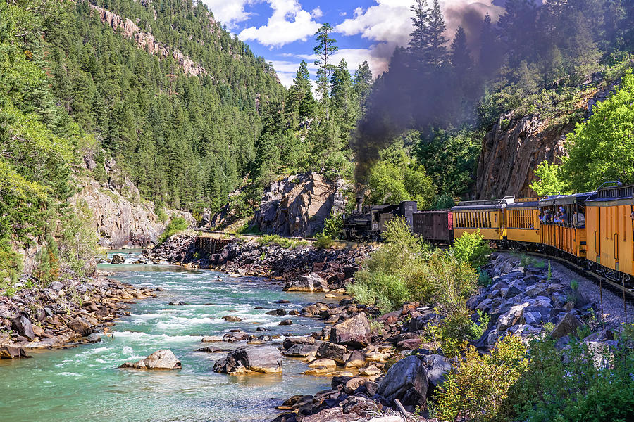
[[(306, 365), (297, 359), (285, 359), (280, 375), (227, 376), (212, 370), (223, 354), (194, 351), (204, 345), (237, 347), (200, 343), (202, 335), (231, 328), (309, 333), (318, 321), (294, 316), (294, 325), (278, 326), (288, 316), (265, 312), (301, 309), (323, 300), (323, 294), (286, 293), (265, 281), (209, 270), (132, 264), (100, 269), (112, 271), (113, 279), (165, 290), (130, 305), (130, 316), (116, 321), (113, 337), (101, 343), (0, 361), (0, 421), (270, 421), (277, 414), (274, 407), (287, 397), (329, 387), (330, 378), (301, 375)], [(189, 305), (168, 306), (172, 300)], [(278, 300), (291, 303), (278, 305)], [(254, 309), (258, 305), (265, 309)], [(225, 322), (224, 315), (240, 316), (242, 322)], [(256, 332), (259, 326), (270, 331)], [(180, 359), (182, 370), (118, 369), (165, 348)]]

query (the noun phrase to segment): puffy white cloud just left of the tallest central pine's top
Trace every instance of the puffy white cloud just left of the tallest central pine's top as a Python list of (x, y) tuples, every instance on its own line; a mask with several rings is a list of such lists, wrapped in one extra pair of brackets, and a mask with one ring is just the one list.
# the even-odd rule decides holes
[[(297, 0), (267, 0), (273, 15), (266, 25), (248, 27), (240, 32), (243, 41), (255, 40), (265, 46), (280, 47), (294, 41), (306, 41), (321, 26), (311, 13), (304, 11)], [(313, 10), (315, 13), (318, 8)], [(319, 10), (321, 13), (321, 10)]]

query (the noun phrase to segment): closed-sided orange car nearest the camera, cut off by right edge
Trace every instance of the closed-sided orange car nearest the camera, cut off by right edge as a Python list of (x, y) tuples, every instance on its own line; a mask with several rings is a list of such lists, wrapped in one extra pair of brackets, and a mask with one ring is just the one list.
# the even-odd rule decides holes
[(588, 260), (634, 275), (634, 186), (600, 188), (586, 201)]

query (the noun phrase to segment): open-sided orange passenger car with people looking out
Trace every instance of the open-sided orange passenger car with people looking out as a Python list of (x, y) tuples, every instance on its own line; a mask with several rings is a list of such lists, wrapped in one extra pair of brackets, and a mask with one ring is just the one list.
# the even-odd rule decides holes
[[(585, 258), (588, 252), (585, 229), (585, 200), (594, 193), (558, 195), (540, 200), (542, 244)], [(557, 251), (554, 251), (557, 252)]]

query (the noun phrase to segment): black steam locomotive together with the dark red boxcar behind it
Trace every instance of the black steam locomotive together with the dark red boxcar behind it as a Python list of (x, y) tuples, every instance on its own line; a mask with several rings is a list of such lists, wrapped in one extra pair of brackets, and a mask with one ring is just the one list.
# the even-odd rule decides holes
[(357, 198), (356, 210), (344, 218), (343, 234), (347, 241), (380, 241), (385, 223), (392, 217), (404, 217), (411, 231), (426, 241), (453, 241), (452, 213), (449, 210), (418, 211), (415, 200), (363, 206), (362, 199)]

